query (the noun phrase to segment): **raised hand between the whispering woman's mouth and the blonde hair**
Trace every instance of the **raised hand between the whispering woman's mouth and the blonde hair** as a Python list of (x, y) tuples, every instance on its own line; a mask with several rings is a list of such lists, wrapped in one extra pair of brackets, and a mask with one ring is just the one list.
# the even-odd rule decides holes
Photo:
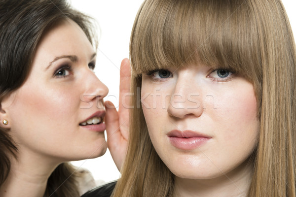
[(111, 101), (106, 101), (105, 123), (107, 126), (107, 142), (111, 156), (120, 171), (127, 149), (129, 131), (130, 82), (131, 68), (128, 59), (120, 66), (119, 108), (118, 112)]

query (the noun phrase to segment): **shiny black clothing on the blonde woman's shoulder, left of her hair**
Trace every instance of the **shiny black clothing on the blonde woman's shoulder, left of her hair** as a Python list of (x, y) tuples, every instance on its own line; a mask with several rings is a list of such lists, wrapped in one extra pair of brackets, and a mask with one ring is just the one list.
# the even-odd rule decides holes
[(92, 190), (89, 190), (81, 197), (110, 197), (117, 181), (107, 183)]

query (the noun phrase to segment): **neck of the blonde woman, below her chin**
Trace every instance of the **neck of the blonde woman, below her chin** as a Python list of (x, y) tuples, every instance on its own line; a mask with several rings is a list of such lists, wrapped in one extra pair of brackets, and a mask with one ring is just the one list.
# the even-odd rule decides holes
[(252, 174), (250, 164), (208, 180), (175, 177), (174, 197), (248, 197)]

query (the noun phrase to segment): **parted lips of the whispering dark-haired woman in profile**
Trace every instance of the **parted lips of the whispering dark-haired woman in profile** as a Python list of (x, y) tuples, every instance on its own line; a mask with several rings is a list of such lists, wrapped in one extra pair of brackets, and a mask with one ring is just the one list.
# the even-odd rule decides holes
[(104, 132), (106, 130), (106, 124), (104, 123), (105, 113), (105, 111), (97, 111), (82, 121), (79, 126), (91, 131)]

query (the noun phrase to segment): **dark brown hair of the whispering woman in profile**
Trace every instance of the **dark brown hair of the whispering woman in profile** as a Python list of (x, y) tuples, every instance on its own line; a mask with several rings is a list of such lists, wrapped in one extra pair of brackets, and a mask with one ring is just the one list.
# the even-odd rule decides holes
[[(42, 34), (66, 19), (78, 24), (97, 47), (91, 18), (71, 8), (66, 0), (0, 1), (0, 100), (26, 80)], [(17, 158), (17, 144), (0, 127), (0, 186), (9, 174), (11, 156)], [(71, 164), (60, 164), (48, 179), (45, 195), (78, 197), (75, 175)]]

